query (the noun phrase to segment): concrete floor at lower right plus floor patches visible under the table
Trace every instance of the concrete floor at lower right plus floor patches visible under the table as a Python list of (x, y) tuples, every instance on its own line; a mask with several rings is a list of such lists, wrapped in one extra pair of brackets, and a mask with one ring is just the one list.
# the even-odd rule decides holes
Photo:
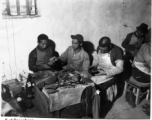
[[(150, 116), (146, 115), (142, 110), (144, 104), (150, 104), (150, 101), (144, 99), (138, 106), (131, 108), (125, 101), (124, 97), (121, 96), (114, 102), (112, 108), (106, 114), (105, 119), (150, 119)], [(24, 112), (24, 116), (30, 118), (43, 118), (42, 114), (36, 109), (36, 107), (28, 109)], [(88, 119), (85, 116), (82, 118)]]

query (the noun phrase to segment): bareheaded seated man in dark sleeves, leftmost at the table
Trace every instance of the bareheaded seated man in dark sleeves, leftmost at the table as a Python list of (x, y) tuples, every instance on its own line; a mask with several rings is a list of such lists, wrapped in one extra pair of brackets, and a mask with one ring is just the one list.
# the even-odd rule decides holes
[(29, 69), (33, 72), (49, 70), (54, 63), (54, 57), (52, 49), (47, 46), (48, 36), (40, 34), (37, 42), (38, 46), (29, 54)]

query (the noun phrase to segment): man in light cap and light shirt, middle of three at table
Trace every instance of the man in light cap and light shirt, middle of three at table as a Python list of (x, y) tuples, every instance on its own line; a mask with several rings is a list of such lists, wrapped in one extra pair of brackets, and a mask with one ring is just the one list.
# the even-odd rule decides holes
[(63, 69), (74, 69), (84, 77), (88, 75), (88, 68), (90, 66), (90, 60), (88, 53), (84, 51), (83, 36), (80, 34), (71, 35), (72, 46), (69, 46), (67, 50), (59, 57), (62, 62), (66, 62), (67, 65)]

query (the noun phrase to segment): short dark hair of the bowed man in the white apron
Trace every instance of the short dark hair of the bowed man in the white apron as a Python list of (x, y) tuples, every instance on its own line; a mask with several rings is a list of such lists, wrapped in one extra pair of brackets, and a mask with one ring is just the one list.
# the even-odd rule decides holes
[(109, 37), (102, 37), (100, 40), (99, 40), (99, 46), (100, 47), (109, 47), (111, 44), (111, 40)]

